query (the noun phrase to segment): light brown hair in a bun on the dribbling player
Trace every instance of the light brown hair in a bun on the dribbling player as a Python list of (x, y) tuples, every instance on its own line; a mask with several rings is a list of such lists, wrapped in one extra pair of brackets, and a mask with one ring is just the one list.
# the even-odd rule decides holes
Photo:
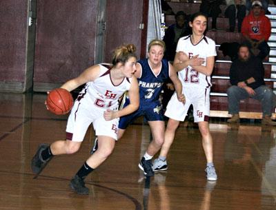
[(137, 56), (135, 54), (136, 47), (133, 44), (121, 45), (119, 48), (115, 49), (112, 56), (112, 65), (117, 65), (117, 63), (126, 63), (130, 57)]

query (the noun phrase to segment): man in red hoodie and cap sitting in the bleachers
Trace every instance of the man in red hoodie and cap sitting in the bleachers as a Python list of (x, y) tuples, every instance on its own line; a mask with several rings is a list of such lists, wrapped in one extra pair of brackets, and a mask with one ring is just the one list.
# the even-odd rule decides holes
[(260, 1), (253, 1), (250, 13), (242, 22), (242, 34), (248, 47), (259, 49), (257, 56), (264, 60), (270, 51), (267, 41), (271, 34), (271, 24)]

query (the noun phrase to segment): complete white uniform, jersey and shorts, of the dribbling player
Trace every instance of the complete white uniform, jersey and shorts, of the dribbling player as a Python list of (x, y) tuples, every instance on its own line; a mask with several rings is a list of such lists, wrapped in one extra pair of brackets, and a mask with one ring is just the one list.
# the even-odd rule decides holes
[(117, 140), (119, 118), (105, 120), (106, 109), (117, 110), (119, 98), (130, 89), (131, 78), (124, 78), (114, 85), (110, 77), (110, 65), (100, 64), (100, 74), (95, 81), (86, 83), (70, 112), (66, 127), (66, 139), (81, 142), (91, 123), (96, 136), (110, 136)]

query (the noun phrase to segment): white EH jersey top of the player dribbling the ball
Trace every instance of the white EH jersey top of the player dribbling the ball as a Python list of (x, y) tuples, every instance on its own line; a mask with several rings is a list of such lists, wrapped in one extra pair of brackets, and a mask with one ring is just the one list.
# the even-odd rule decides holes
[(77, 100), (88, 109), (98, 109), (97, 112), (104, 112), (106, 109), (115, 111), (119, 106), (119, 98), (130, 89), (131, 78), (124, 78), (119, 85), (114, 85), (108, 69), (110, 66), (99, 66), (100, 76), (95, 81), (86, 83)]

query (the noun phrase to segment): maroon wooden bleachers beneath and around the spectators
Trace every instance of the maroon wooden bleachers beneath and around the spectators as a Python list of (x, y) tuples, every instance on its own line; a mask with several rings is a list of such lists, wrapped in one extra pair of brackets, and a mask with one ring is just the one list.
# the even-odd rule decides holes
[[(193, 14), (194, 12), (199, 11), (200, 3), (188, 3), (188, 1), (179, 1), (179, 2), (168, 2), (172, 10), (176, 13), (179, 10), (183, 10), (186, 14)], [(243, 36), (239, 32), (227, 32), (228, 19), (224, 18), (224, 10), (226, 6), (221, 6), (221, 14), (217, 19), (217, 31), (208, 31), (207, 36), (215, 41), (217, 44), (217, 58), (215, 63), (215, 68), (212, 75), (213, 87), (211, 88), (210, 93), (210, 116), (211, 117), (221, 117), (229, 118), (228, 114), (228, 99), (226, 90), (230, 87), (229, 82), (229, 70), (230, 70), (230, 57), (224, 56), (220, 50), (218, 50), (219, 45), (224, 42), (238, 42), (242, 43)], [(264, 62), (265, 69), (265, 81), (266, 85), (270, 88), (276, 87), (276, 7), (269, 8), (272, 13), (270, 16), (271, 25), (275, 27), (272, 29), (272, 35), (268, 44), (270, 45), (271, 52), (268, 62)], [(274, 20), (275, 19), (275, 20)], [(175, 23), (174, 15), (166, 15), (165, 17), (166, 25), (171, 25)], [(208, 26), (211, 25), (211, 18), (208, 19)], [(237, 27), (236, 27), (237, 30)], [(275, 33), (275, 34), (274, 34)], [(275, 60), (274, 59), (275, 55)], [(275, 89), (274, 89), (275, 90)], [(240, 102), (240, 118), (253, 118), (260, 119), (262, 118), (262, 107), (259, 101), (248, 98)], [(276, 119), (276, 114), (273, 114), (273, 118)]]

